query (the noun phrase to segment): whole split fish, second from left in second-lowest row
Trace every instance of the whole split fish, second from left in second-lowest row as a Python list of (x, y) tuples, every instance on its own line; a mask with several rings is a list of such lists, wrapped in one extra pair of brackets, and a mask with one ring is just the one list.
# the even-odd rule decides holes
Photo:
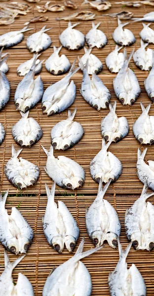
[(48, 243), (59, 254), (63, 252), (64, 244), (67, 250), (72, 253), (76, 247), (79, 228), (72, 214), (62, 201), (57, 204), (54, 201), (55, 185), (53, 182), (51, 191), (45, 184), (47, 194), (47, 206), (42, 219), (44, 235)]

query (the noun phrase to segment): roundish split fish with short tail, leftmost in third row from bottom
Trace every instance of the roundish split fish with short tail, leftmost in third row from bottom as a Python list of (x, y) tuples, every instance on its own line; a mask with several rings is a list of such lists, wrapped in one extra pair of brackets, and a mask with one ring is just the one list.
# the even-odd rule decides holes
[(22, 148), (16, 152), (12, 145), (12, 157), (4, 167), (8, 181), (20, 189), (34, 185), (39, 178), (39, 167), (37, 165), (21, 157), (18, 159), (21, 151)]

